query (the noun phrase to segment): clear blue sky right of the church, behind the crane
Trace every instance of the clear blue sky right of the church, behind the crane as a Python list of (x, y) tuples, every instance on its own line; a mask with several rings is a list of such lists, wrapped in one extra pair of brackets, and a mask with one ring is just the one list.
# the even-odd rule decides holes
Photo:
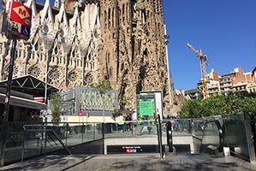
[(219, 74), (256, 67), (256, 0), (163, 0), (170, 35), (170, 73), (176, 89), (196, 88), (199, 58), (186, 45), (202, 49)]

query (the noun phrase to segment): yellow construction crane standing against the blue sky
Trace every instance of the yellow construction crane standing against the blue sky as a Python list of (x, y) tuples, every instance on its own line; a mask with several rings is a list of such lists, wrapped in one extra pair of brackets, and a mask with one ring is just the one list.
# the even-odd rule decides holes
[(191, 44), (187, 44), (187, 45), (188, 45), (188, 48), (190, 48), (193, 51), (193, 53), (195, 53), (196, 56), (198, 56), (200, 59), (200, 71), (201, 71), (201, 83), (202, 83), (202, 87), (203, 87), (203, 96), (204, 96), (204, 98), (207, 98), (207, 97), (209, 97), (209, 91), (208, 91), (208, 87), (207, 87), (208, 80), (205, 77), (205, 75), (206, 75), (205, 64), (209, 65), (209, 61), (207, 60), (207, 56), (203, 55), (203, 52), (201, 49), (195, 50)]

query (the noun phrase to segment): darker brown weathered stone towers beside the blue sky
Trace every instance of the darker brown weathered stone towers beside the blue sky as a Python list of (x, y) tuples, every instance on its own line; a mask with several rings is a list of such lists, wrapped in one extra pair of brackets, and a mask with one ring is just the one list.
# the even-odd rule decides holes
[(126, 107), (135, 107), (135, 95), (140, 91), (163, 91), (165, 97), (162, 0), (102, 0), (100, 7), (104, 44), (101, 77), (110, 80), (119, 95), (130, 99)]

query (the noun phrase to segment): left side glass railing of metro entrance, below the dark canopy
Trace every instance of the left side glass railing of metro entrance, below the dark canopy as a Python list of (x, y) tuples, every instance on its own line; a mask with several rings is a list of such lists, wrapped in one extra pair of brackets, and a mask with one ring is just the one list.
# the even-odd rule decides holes
[(102, 123), (59, 123), (56, 125), (42, 122), (9, 122), (4, 162), (7, 164), (18, 162), (23, 158), (63, 150), (63, 145), (71, 147), (103, 139), (102, 130)]

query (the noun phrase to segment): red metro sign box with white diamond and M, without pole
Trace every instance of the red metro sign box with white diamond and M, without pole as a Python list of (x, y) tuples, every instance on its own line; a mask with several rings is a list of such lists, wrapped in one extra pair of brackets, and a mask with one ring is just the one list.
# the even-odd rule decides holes
[(22, 39), (29, 38), (32, 9), (14, 1), (11, 1), (8, 5), (10, 7), (6, 27), (8, 34), (14, 34)]

